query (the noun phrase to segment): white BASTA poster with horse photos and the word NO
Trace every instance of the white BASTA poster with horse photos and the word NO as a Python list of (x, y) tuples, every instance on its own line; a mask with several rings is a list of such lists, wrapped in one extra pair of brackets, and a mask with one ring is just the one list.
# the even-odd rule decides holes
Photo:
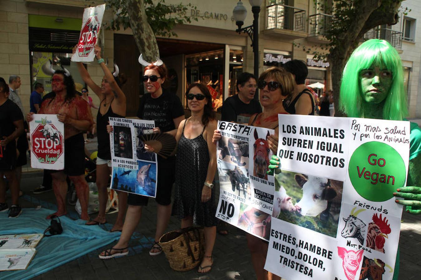
[[(274, 178), (267, 175), (273, 129), (218, 121), (216, 147), (220, 196), (216, 217), (269, 240)], [(252, 160), (249, 160), (250, 156)]]

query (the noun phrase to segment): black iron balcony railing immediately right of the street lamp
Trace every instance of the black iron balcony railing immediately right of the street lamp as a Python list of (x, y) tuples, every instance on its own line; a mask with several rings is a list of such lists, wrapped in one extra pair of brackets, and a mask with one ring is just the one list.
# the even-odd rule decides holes
[(306, 11), (295, 7), (273, 4), (266, 7), (266, 29), (305, 31)]

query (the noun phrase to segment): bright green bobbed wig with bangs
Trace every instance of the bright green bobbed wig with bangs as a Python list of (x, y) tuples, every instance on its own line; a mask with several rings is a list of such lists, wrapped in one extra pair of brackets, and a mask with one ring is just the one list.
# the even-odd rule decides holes
[(392, 85), (383, 107), (384, 120), (402, 120), (408, 115), (408, 103), (403, 87), (402, 63), (389, 42), (370, 39), (352, 52), (342, 73), (339, 105), (348, 117), (363, 118), (360, 72), (373, 63), (384, 64), (392, 71)]

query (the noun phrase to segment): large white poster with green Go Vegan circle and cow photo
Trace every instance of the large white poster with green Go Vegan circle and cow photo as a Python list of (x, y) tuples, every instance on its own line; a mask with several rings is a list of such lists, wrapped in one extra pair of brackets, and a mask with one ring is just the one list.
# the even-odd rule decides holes
[[(392, 279), (409, 122), (279, 115), (281, 173), (265, 269), (286, 279)], [(360, 276), (361, 275), (361, 276)]]

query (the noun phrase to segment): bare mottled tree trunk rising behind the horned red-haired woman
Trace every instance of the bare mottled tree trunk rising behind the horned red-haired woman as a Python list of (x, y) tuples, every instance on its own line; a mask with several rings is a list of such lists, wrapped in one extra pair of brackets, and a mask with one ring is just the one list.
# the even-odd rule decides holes
[(128, 16), (133, 37), (144, 60), (155, 62), (159, 58), (157, 39), (148, 23), (143, 0), (126, 0)]

